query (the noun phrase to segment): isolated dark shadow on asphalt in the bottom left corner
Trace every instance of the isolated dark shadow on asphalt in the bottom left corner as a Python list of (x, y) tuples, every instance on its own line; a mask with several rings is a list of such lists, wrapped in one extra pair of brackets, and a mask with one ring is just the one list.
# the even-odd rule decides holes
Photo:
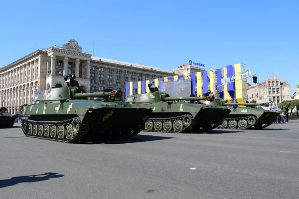
[(19, 183), (33, 183), (39, 181), (50, 180), (51, 178), (61, 178), (64, 175), (57, 175), (57, 173), (44, 173), (32, 176), (18, 176), (10, 179), (0, 180), (0, 188), (13, 186)]

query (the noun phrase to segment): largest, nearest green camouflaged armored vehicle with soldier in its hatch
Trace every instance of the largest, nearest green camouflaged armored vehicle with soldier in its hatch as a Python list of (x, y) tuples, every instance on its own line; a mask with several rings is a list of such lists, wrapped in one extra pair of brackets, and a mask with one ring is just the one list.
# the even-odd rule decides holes
[[(121, 90), (85, 93), (77, 87), (47, 89), (36, 93), (32, 104), (24, 104), (20, 115), (27, 137), (77, 143), (87, 133), (129, 138), (144, 129), (152, 112), (116, 101)], [(88, 98), (103, 100), (88, 100)]]

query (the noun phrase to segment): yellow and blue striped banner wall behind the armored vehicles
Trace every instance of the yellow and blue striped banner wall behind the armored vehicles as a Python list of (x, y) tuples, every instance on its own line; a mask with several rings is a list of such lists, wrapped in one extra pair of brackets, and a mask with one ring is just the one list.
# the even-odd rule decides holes
[[(221, 69), (203, 71), (185, 75), (175, 75), (154, 80), (146, 80), (140, 82), (127, 82), (126, 83), (126, 98), (129, 95), (149, 93), (148, 84), (154, 82), (154, 86), (160, 90), (161, 82), (171, 82), (183, 79), (190, 79), (191, 81), (191, 94), (200, 95), (203, 97), (208, 90), (218, 93), (218, 97), (224, 100), (231, 100), (235, 98), (239, 103), (244, 102), (243, 96), (246, 88), (242, 86), (240, 74), (242, 73), (241, 64), (229, 65)], [(232, 82), (223, 84), (223, 79), (228, 79)], [(217, 92), (218, 91), (218, 92)]]

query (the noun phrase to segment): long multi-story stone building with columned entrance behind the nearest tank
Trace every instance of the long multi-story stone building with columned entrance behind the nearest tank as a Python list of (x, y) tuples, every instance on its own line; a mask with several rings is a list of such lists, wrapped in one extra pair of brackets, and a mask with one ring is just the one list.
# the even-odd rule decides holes
[(66, 86), (64, 75), (75, 74), (86, 92), (122, 89), (128, 81), (173, 75), (159, 68), (94, 57), (82, 52), (74, 39), (62, 47), (36, 50), (0, 68), (0, 105), (16, 113), (21, 104), (31, 103), (35, 92)]

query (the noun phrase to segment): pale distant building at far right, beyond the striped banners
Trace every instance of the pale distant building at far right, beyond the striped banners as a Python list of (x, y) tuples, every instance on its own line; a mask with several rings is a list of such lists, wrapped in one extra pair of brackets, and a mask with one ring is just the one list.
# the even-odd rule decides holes
[(275, 102), (280, 103), (291, 99), (291, 85), (280, 81), (279, 77), (269, 77), (263, 83), (257, 83), (247, 90), (248, 100), (257, 103)]

